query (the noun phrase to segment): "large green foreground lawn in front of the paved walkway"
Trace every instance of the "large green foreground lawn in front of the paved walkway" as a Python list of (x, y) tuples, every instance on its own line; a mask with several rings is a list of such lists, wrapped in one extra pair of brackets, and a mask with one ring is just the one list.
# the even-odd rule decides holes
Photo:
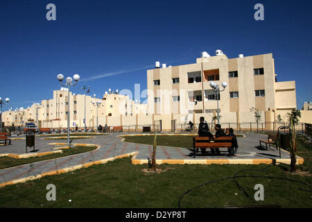
[[(159, 142), (162, 137), (158, 137)], [(171, 137), (176, 146), (175, 138)], [(180, 141), (181, 143), (181, 141)], [(311, 157), (311, 144), (298, 139), (302, 157)], [(244, 169), (265, 169), (268, 165), (211, 164), (157, 166), (162, 173), (146, 173), (147, 164), (132, 165), (130, 158), (122, 158), (79, 169), (58, 176), (46, 176), (0, 189), (0, 207), (177, 207), (180, 196), (197, 185), (218, 180)], [(291, 174), (281, 167), (269, 167), (266, 172), (248, 171), (241, 175), (260, 175), (291, 178), (312, 183), (311, 174)], [(300, 169), (311, 169), (307, 159)], [(311, 189), (299, 183), (272, 178), (238, 178), (237, 181), (251, 196), (247, 198), (233, 180), (223, 180), (191, 191), (182, 199), (182, 207), (224, 207), (237, 205), (269, 205), (281, 207), (312, 207)], [(46, 185), (56, 186), (56, 200), (46, 200)], [(254, 185), (264, 186), (264, 201), (253, 200)], [(71, 200), (71, 202), (69, 202)]]

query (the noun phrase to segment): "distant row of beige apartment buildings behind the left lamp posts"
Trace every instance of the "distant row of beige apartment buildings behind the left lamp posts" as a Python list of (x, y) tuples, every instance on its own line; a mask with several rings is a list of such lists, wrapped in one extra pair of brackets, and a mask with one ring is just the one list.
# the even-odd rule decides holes
[[(94, 101), (95, 103), (92, 103)], [(96, 102), (101, 104), (96, 105)], [(85, 105), (86, 104), (86, 105)], [(94, 105), (95, 104), (95, 105)], [(69, 108), (69, 110), (68, 110)], [(107, 119), (132, 117), (137, 114), (146, 115), (146, 104), (129, 99), (129, 96), (105, 92), (102, 99), (85, 94), (73, 94), (67, 88), (53, 91), (53, 99), (34, 103), (27, 109), (3, 112), (3, 122), (6, 126), (25, 126), (26, 123), (36, 123), (38, 128), (67, 128), (67, 115), (70, 115), (70, 126), (84, 128), (86, 117), (87, 128), (96, 128), (98, 124), (105, 125)], [(119, 123), (118, 123), (119, 122)], [(111, 121), (113, 126), (121, 126), (121, 121)]]

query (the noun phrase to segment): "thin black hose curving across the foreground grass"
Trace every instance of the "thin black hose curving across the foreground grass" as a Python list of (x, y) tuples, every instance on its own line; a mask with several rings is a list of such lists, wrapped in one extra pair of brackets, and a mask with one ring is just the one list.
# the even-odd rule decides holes
[[(275, 163), (278, 163), (278, 162), (274, 162), (273, 164)], [(220, 182), (220, 181), (223, 181), (223, 180), (229, 180), (229, 179), (233, 179), (234, 182), (236, 183), (236, 185), (239, 187), (239, 189), (241, 191), (243, 191), (243, 193), (248, 197), (250, 198), (250, 196), (248, 195), (247, 191), (245, 191), (245, 189), (243, 189), (243, 187), (239, 184), (239, 182), (237, 182), (235, 179), (236, 178), (270, 178), (270, 179), (276, 179), (276, 180), (288, 180), (288, 181), (291, 181), (291, 182), (299, 182), (299, 183), (302, 183), (303, 185), (306, 185), (308, 187), (311, 187), (310, 184), (306, 183), (306, 182), (302, 182), (300, 180), (293, 180), (293, 179), (289, 179), (289, 178), (279, 178), (279, 177), (275, 177), (275, 176), (259, 176), (259, 175), (242, 175), (242, 176), (238, 176), (239, 173), (243, 172), (243, 171), (267, 171), (269, 167), (271, 167), (272, 164), (269, 164), (265, 169), (244, 169), (244, 170), (241, 170), (241, 171), (238, 171), (237, 173), (234, 174), (234, 176), (229, 176), (227, 178), (222, 178), (222, 179), (219, 179), (219, 180), (211, 180), (209, 182), (205, 182), (205, 183), (202, 183), (201, 185), (198, 185), (196, 187), (193, 187), (191, 189), (189, 189), (188, 191), (184, 192), (184, 194), (182, 194), (182, 196), (180, 196), (179, 198), (179, 201), (178, 201), (178, 207), (181, 208), (181, 200), (182, 198), (184, 198), (185, 195), (189, 194), (191, 191), (195, 190), (195, 189), (198, 189), (200, 187), (203, 187), (203, 186), (206, 186), (206, 185), (209, 185), (211, 183), (214, 183), (214, 182)], [(309, 190), (309, 189), (302, 189), (302, 188), (299, 188), (299, 190), (302, 190), (302, 191), (309, 191), (311, 192), (312, 190)], [(251, 199), (251, 198), (250, 198)]]

